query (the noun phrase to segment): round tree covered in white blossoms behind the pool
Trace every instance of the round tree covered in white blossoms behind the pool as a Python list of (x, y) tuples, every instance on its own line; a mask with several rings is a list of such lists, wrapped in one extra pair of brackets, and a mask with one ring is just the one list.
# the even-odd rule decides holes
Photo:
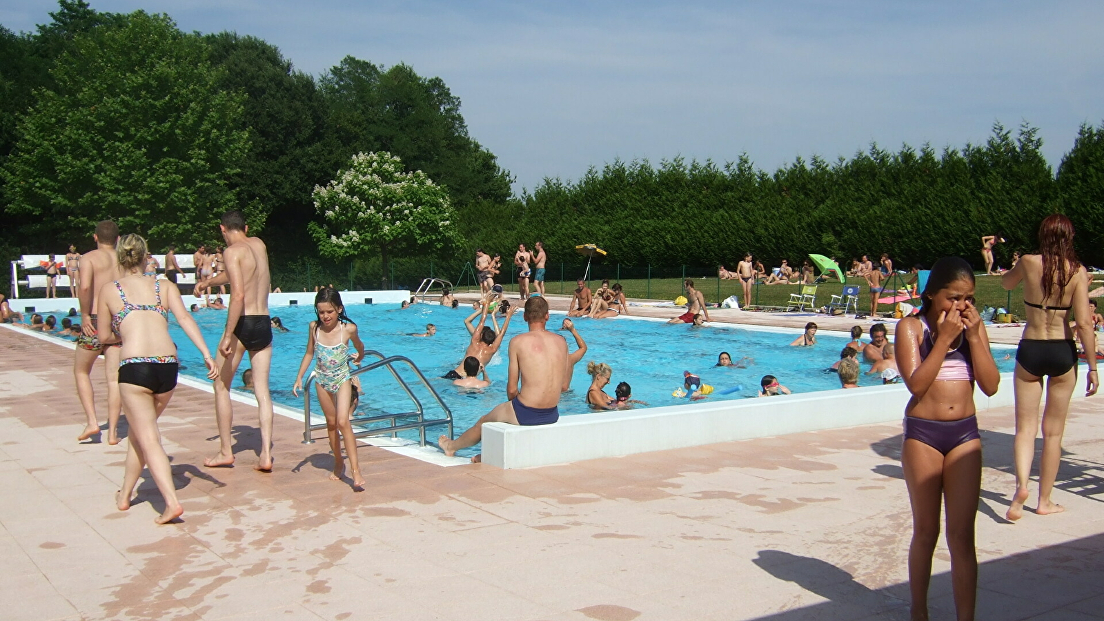
[(308, 227), (322, 256), (379, 251), (386, 274), (395, 253), (440, 251), (460, 241), (448, 192), (421, 170), (404, 171), (386, 151), (352, 156), (325, 188), (315, 186), (314, 198), (325, 222)]

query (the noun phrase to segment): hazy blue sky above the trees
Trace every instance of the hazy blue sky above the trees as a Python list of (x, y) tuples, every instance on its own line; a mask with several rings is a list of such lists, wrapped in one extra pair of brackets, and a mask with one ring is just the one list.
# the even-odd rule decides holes
[[(1104, 120), (1104, 2), (355, 2), (99, 0), (236, 31), (319, 74), (346, 55), (405, 62), (463, 102), (471, 136), (532, 189), (615, 158), (773, 171), (871, 141), (937, 149), (994, 122), (1041, 130), (1055, 168)], [(32, 30), (51, 0), (6, 0)]]

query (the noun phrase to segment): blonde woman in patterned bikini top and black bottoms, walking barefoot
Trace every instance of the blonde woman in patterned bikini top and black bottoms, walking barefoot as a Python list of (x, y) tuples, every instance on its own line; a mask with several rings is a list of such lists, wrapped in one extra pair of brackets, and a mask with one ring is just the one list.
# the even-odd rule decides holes
[(180, 328), (203, 354), (209, 379), (217, 379), (219, 368), (208, 351), (199, 326), (184, 308), (177, 285), (142, 275), (149, 256), (146, 240), (138, 235), (125, 235), (119, 240), (117, 255), (121, 277), (100, 287), (97, 313), (104, 318), (105, 328), (110, 317), (112, 329), (103, 330), (102, 343), (107, 346), (121, 341), (119, 391), (127, 406), (127, 422), (130, 424), (123, 487), (115, 501), (119, 511), (130, 508), (135, 486), (142, 469), (148, 466), (153, 483), (164, 498), (164, 512), (155, 522), (167, 524), (184, 513), (177, 498), (172, 467), (157, 428), (157, 419), (169, 406), (177, 388), (180, 368), (177, 346), (169, 335), (167, 310), (172, 312)]

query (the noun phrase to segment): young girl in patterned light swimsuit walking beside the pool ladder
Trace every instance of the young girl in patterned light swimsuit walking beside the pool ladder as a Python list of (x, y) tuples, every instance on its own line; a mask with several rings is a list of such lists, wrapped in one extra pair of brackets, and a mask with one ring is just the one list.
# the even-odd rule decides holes
[[(344, 460), (341, 459), (341, 440), (344, 440), (346, 455), (352, 471), (352, 488), (362, 492), (364, 477), (360, 473), (357, 454), (357, 436), (352, 432), (352, 373), (350, 362), (359, 364), (364, 358), (364, 344), (360, 340), (357, 324), (346, 315), (341, 294), (333, 287), (322, 287), (315, 296), (315, 314), (318, 319), (307, 327), (307, 352), (299, 364), (299, 373), (291, 387), (291, 394), (298, 397), (302, 390), (302, 376), (315, 360), (315, 385), (318, 403), (326, 414), (326, 432), (333, 452), (332, 481), (344, 476)], [(349, 352), (349, 343), (357, 349)], [(340, 434), (340, 438), (339, 438)]]

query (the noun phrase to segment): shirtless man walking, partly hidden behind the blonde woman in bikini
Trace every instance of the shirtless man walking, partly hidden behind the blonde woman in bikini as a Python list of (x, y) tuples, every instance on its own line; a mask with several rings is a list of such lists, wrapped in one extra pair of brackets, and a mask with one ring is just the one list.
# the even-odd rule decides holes
[[(105, 285), (110, 285), (120, 276), (119, 261), (115, 256), (115, 242), (119, 239), (119, 228), (110, 220), (96, 224), (92, 239), (96, 241), (96, 250), (81, 256), (78, 271), (81, 286), (76, 296), (81, 303), (81, 333), (76, 339), (76, 354), (73, 360), (73, 380), (76, 383), (76, 394), (87, 417), (87, 424), (77, 440), (84, 441), (99, 434), (99, 422), (96, 421), (96, 397), (92, 389), (92, 366), (104, 354), (104, 370), (107, 376), (107, 443), (118, 444), (116, 430), (119, 424), (119, 412), (123, 410), (123, 396), (119, 392), (119, 348), (107, 345), (100, 347), (96, 337), (96, 307), (99, 295), (106, 292)], [(110, 317), (104, 318), (104, 327), (110, 326)]]

